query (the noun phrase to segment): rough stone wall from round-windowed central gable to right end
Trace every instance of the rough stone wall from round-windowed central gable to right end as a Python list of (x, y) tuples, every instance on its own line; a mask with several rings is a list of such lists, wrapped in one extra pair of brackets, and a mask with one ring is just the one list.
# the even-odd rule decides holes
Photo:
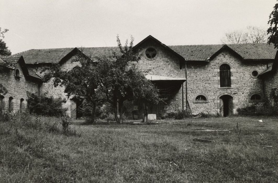
[[(154, 60), (149, 60), (145, 56), (145, 51), (148, 47), (153, 47), (157, 50), (158, 56)], [(185, 78), (185, 64), (180, 69), (180, 63), (177, 57), (164, 49), (156, 42), (147, 42), (143, 44), (139, 52), (142, 53), (142, 59), (138, 62), (138, 66), (143, 70), (150, 69), (148, 74), (182, 77)], [(225, 55), (225, 57), (224, 57)], [(231, 68), (232, 87), (220, 88), (219, 67), (221, 64), (229, 64)], [(193, 113), (219, 112), (220, 99), (224, 94), (233, 97), (233, 112), (236, 113), (237, 108), (255, 105), (260, 108), (264, 104), (262, 102), (250, 102), (252, 94), (263, 95), (263, 82), (259, 78), (253, 78), (252, 71), (259, 73), (266, 68), (266, 62), (262, 61), (241, 61), (238, 57), (229, 51), (223, 51), (210, 62), (188, 61), (187, 62), (187, 91), (188, 102)], [(270, 64), (270, 63), (269, 63)], [(171, 82), (169, 82), (169, 85)], [(185, 83), (184, 83), (184, 108), (185, 101)], [(195, 103), (198, 95), (204, 95), (207, 98), (206, 103)], [(177, 94), (166, 101), (168, 110), (172, 112), (182, 109), (182, 88)]]

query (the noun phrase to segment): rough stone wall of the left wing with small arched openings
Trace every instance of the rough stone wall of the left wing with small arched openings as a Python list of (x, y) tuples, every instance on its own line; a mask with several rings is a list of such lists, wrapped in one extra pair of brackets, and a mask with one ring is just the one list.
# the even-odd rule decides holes
[[(16, 69), (19, 70), (21, 77), (20, 79), (15, 78)], [(8, 93), (3, 95), (3, 111), (8, 111), (9, 97), (13, 97), (12, 112), (17, 112), (20, 109), (20, 99), (24, 99), (23, 109), (27, 107), (27, 91), (31, 93), (39, 92), (39, 84), (30, 80), (26, 80), (19, 64), (16, 64), (14, 70), (9, 69), (7, 72), (0, 73), (0, 83), (2, 83), (3, 86), (8, 90)]]

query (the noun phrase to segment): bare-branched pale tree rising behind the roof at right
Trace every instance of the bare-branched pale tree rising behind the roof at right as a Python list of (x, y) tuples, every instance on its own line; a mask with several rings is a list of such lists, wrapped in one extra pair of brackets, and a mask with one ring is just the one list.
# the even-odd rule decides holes
[(259, 27), (248, 26), (242, 30), (225, 33), (221, 41), (223, 44), (265, 43), (267, 42), (267, 31)]

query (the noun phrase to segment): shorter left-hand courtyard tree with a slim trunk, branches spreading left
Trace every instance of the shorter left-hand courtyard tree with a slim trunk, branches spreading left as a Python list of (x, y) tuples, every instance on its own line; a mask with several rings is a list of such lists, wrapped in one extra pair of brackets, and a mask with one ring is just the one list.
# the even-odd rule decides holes
[(71, 62), (78, 62), (79, 66), (69, 71), (61, 69), (58, 63), (46, 67), (41, 72), (48, 72), (44, 75), (43, 80), (48, 81), (53, 78), (54, 87), (64, 86), (64, 92), (69, 97), (85, 99), (86, 104), (92, 106), (91, 119), (88, 122), (94, 123), (96, 106), (103, 101), (103, 94), (98, 88), (98, 77), (96, 77), (96, 62), (85, 56), (82, 52), (78, 52), (75, 59)]

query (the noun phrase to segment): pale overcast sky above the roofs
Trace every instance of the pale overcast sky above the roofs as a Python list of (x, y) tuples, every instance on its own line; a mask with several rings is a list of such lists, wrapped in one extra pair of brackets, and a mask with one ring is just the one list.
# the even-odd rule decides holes
[(222, 44), (225, 32), (267, 29), (276, 0), (0, 0), (12, 54), (29, 49), (117, 46), (132, 35), (170, 45)]

